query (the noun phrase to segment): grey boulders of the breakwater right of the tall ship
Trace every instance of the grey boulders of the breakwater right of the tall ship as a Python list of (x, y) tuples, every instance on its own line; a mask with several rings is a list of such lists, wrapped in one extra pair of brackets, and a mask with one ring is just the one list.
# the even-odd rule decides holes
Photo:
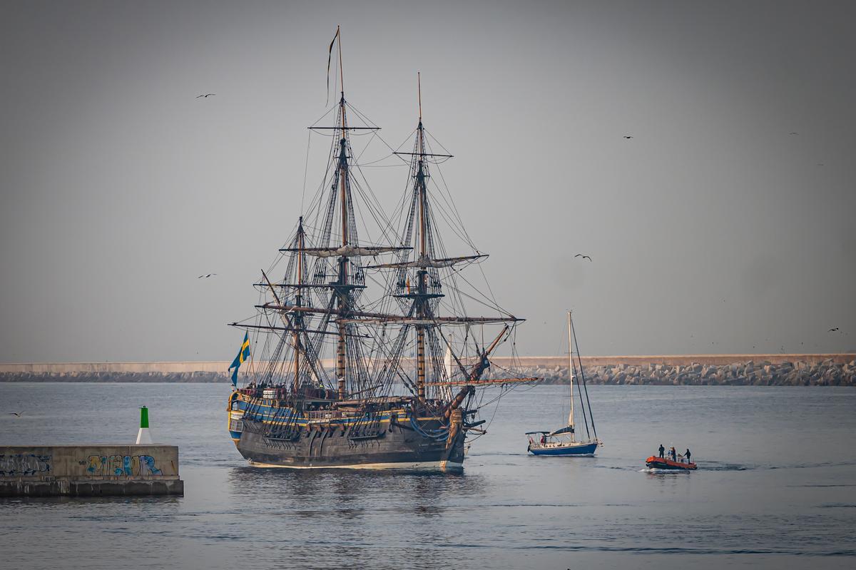
[[(598, 364), (583, 365), (586, 382), (592, 384), (687, 385), (687, 386), (854, 386), (856, 356), (849, 362), (747, 360), (728, 365), (703, 364)], [(527, 376), (544, 383), (568, 383), (568, 366), (529, 366)]]

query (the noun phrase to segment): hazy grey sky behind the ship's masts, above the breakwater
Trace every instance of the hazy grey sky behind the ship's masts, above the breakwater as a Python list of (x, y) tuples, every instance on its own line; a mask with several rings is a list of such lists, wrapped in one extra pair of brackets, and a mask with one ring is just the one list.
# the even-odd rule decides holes
[[(337, 24), (348, 100), (390, 143), (422, 73), (482, 267), (529, 319), (520, 353), (561, 353), (568, 307), (588, 354), (856, 349), (853, 21), (856, 3), (5, 0), (0, 360), (232, 358), (225, 323), (300, 213)], [(389, 170), (367, 175), (391, 209)]]

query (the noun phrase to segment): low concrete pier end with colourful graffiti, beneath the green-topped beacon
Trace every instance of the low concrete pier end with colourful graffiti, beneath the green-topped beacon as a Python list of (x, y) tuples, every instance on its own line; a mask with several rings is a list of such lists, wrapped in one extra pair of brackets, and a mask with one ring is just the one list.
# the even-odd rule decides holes
[(183, 494), (172, 445), (0, 446), (0, 496)]

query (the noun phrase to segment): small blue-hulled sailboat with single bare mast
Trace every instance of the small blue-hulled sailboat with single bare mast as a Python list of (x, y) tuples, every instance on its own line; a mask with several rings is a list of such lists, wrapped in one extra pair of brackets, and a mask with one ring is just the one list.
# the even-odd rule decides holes
[[(568, 370), (571, 377), (570, 391), (570, 413), (568, 413), (568, 425), (565, 425), (553, 431), (529, 431), (526, 436), (529, 436), (529, 446), (526, 451), (533, 455), (578, 455), (591, 457), (597, 451), (599, 445), (603, 445), (597, 438), (597, 430), (594, 426), (594, 415), (591, 413), (591, 401), (588, 397), (588, 388), (586, 387), (586, 376), (583, 373), (583, 365), (580, 360), (580, 347), (576, 346), (576, 335), (574, 333), (574, 321), (571, 318), (571, 312), (568, 311)], [(574, 347), (576, 347), (577, 361), (574, 362)], [(575, 383), (577, 366), (580, 367), (581, 383)], [(577, 396), (580, 399), (580, 410), (583, 413), (583, 423), (586, 426), (586, 439), (576, 439), (576, 428), (574, 426), (574, 386), (577, 387)], [(586, 400), (583, 401), (583, 396)], [(586, 413), (586, 408), (588, 413)], [(589, 421), (591, 420), (591, 430), (589, 430)], [(592, 437), (593, 435), (593, 437)]]

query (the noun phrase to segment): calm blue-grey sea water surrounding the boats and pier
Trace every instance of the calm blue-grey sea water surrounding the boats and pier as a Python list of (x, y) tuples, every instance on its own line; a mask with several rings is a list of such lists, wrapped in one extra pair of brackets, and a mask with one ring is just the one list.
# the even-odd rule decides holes
[[(856, 567), (856, 390), (590, 389), (595, 458), (526, 455), (567, 388), (506, 395), (461, 474), (260, 470), (219, 384), (0, 383), (0, 443), (181, 448), (181, 498), (0, 500), (4, 568)], [(9, 412), (21, 412), (21, 418)], [(483, 416), (491, 419), (491, 415)], [(659, 443), (698, 472), (645, 471)]]

